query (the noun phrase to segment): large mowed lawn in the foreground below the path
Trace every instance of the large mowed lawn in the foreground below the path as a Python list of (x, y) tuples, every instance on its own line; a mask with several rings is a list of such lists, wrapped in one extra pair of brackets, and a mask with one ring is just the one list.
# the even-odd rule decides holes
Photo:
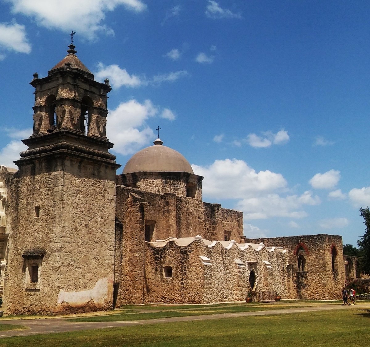
[(10, 337), (0, 346), (335, 346), (366, 347), (370, 310), (322, 312), (147, 324), (124, 328)]

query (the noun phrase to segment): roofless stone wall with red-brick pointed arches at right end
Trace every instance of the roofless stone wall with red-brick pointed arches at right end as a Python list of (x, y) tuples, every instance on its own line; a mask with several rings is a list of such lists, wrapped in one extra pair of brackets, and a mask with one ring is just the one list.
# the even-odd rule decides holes
[[(263, 242), (266, 246), (280, 246), (288, 251), (292, 281), (288, 297), (295, 299), (338, 299), (344, 285), (342, 237), (338, 235), (301, 235), (278, 238), (245, 239)], [(332, 263), (333, 248), (337, 255)], [(298, 257), (303, 256), (304, 269)], [(289, 285), (289, 283), (288, 283)]]

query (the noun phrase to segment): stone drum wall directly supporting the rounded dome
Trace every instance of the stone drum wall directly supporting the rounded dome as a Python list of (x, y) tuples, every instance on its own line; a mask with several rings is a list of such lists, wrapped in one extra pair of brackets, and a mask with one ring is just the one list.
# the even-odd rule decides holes
[(117, 184), (152, 193), (173, 193), (202, 201), (202, 176), (176, 171), (140, 171), (117, 176)]

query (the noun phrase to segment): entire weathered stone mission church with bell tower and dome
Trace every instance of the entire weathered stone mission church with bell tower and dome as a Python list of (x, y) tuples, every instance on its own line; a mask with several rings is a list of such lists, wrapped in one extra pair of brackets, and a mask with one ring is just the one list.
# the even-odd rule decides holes
[(69, 47), (47, 77), (34, 74), (34, 128), (19, 170), (0, 167), (7, 313), (226, 302), (250, 288), (339, 297), (341, 237), (245, 239), (242, 212), (203, 202), (203, 177), (159, 139), (116, 176), (109, 81), (94, 81)]

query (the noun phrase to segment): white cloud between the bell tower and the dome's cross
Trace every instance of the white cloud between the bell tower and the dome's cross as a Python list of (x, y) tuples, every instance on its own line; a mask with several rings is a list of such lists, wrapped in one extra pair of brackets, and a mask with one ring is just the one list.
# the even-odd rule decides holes
[(165, 108), (162, 111), (150, 100), (143, 103), (135, 99), (122, 102), (114, 110), (109, 110), (107, 116), (107, 137), (114, 143), (114, 152), (132, 154), (155, 139), (152, 129), (147, 125), (151, 117), (159, 116), (169, 120), (174, 119), (174, 113)]

